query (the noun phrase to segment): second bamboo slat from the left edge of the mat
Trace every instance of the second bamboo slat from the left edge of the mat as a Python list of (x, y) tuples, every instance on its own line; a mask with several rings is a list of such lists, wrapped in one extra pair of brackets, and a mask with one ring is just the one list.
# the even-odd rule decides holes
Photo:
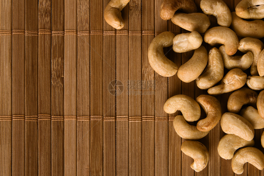
[(13, 0), (12, 6), (12, 175), (23, 176), (25, 175), (25, 0)]

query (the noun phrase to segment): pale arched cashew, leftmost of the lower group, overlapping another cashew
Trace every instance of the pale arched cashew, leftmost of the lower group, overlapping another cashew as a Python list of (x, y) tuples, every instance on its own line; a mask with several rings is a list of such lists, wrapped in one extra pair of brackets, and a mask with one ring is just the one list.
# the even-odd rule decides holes
[(201, 109), (199, 104), (187, 95), (175, 95), (170, 97), (164, 104), (163, 109), (168, 114), (181, 111), (184, 119), (193, 122), (200, 119)]

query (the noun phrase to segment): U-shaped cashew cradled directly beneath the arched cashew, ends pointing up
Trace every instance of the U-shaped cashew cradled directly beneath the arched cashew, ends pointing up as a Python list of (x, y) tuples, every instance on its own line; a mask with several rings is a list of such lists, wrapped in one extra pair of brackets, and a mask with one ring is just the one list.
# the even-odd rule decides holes
[(249, 68), (253, 62), (253, 54), (250, 51), (248, 51), (243, 56), (229, 56), (225, 51), (224, 45), (219, 47), (219, 51), (223, 58), (224, 67), (228, 70), (240, 68), (244, 71)]

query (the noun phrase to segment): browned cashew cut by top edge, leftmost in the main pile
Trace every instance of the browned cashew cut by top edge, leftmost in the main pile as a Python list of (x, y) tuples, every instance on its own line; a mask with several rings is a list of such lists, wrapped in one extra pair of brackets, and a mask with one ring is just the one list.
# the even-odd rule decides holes
[(161, 4), (160, 16), (163, 20), (169, 20), (177, 10), (184, 13), (195, 13), (197, 7), (192, 0), (163, 0)]

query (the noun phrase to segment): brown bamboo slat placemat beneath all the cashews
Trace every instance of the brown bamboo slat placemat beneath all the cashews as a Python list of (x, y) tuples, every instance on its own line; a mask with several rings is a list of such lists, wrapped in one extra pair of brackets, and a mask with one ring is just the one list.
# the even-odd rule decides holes
[[(0, 175), (236, 175), (217, 152), (220, 123), (199, 140), (210, 157), (196, 173), (173, 129), (180, 112), (163, 111), (171, 96), (207, 94), (149, 65), (155, 35), (187, 31), (160, 18), (162, 0), (131, 0), (116, 30), (103, 18), (109, 1), (0, 1)], [(234, 11), (239, 0), (225, 2)], [(179, 66), (193, 51), (165, 53)], [(223, 111), (230, 94), (217, 96)]]

